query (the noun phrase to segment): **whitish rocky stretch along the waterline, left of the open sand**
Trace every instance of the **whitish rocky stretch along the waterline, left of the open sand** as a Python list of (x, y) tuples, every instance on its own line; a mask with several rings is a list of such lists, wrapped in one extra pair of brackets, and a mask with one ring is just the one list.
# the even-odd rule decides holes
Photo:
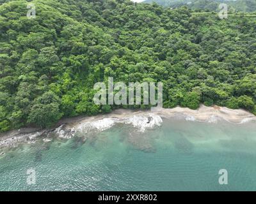
[[(156, 126), (161, 126), (163, 120), (158, 115), (152, 113), (144, 115), (134, 115), (127, 118), (105, 118), (90, 122), (80, 122), (73, 128), (68, 128), (65, 124), (62, 124), (56, 129), (51, 131), (38, 131), (27, 134), (17, 134), (9, 138), (0, 140), (0, 147), (16, 147), (19, 142), (34, 143), (36, 138), (43, 136), (43, 142), (51, 142), (52, 138), (48, 135), (57, 136), (58, 138), (69, 139), (75, 135), (87, 133), (99, 133), (115, 126), (115, 124), (130, 124), (133, 128), (138, 129), (140, 132), (144, 132), (146, 129), (153, 129)], [(47, 136), (45, 138), (45, 136)]]

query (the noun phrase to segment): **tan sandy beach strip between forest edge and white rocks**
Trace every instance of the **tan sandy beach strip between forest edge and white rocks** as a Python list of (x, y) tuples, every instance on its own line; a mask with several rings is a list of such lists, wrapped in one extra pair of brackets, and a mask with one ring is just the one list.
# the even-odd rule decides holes
[[(159, 115), (163, 118), (175, 117), (177, 115), (184, 115), (188, 117), (192, 117), (193, 120), (198, 120), (201, 122), (207, 122), (212, 119), (212, 117), (219, 117), (221, 119), (227, 120), (228, 122), (233, 123), (243, 123), (248, 121), (256, 121), (256, 116), (250, 112), (247, 112), (243, 109), (230, 109), (221, 106), (204, 106), (201, 105), (197, 110), (191, 110), (189, 108), (159, 108), (156, 112), (151, 112), (150, 110), (129, 110), (129, 109), (118, 109), (113, 110), (113, 112), (104, 114), (104, 115), (96, 115), (92, 117), (77, 117), (77, 118), (69, 118), (63, 119), (58, 122), (58, 124), (67, 124), (68, 126), (76, 126), (77, 124), (81, 124), (83, 122), (101, 120), (104, 118), (116, 118), (116, 119), (124, 119), (127, 117), (132, 117), (133, 115), (147, 115), (148, 113), (153, 113)], [(192, 120), (192, 119), (191, 119)]]

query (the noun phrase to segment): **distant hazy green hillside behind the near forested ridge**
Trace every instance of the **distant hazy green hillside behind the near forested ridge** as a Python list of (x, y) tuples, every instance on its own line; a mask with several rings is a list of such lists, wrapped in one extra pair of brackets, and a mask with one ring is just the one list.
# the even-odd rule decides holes
[(218, 11), (220, 3), (228, 5), (229, 11), (256, 11), (256, 0), (145, 0), (144, 3), (156, 2), (162, 6), (178, 8), (187, 6), (195, 11)]

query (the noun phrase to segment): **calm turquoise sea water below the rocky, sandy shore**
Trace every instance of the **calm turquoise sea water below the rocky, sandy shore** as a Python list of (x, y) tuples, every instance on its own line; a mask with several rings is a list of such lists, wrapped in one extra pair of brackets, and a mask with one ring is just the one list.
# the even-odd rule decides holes
[[(220, 169), (228, 185), (219, 184)], [(256, 126), (163, 119), (145, 133), (118, 124), (86, 142), (20, 144), (0, 157), (0, 190), (256, 191)]]

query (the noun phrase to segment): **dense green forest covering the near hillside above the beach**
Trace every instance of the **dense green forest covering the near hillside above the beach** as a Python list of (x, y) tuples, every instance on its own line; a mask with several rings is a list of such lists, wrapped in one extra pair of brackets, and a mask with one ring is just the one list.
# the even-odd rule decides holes
[[(1, 0), (0, 131), (95, 115), (96, 82), (163, 82), (165, 108), (256, 113), (256, 18), (129, 0)], [(123, 108), (148, 108), (126, 105)]]

